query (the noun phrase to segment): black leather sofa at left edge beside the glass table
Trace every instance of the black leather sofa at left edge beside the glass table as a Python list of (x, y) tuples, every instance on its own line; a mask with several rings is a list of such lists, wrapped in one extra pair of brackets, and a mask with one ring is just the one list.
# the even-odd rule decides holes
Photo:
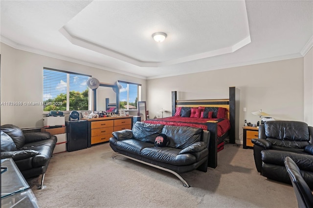
[(48, 132), (24, 134), (18, 126), (1, 125), (1, 159), (12, 158), (26, 179), (43, 174), (41, 189), (56, 143)]

